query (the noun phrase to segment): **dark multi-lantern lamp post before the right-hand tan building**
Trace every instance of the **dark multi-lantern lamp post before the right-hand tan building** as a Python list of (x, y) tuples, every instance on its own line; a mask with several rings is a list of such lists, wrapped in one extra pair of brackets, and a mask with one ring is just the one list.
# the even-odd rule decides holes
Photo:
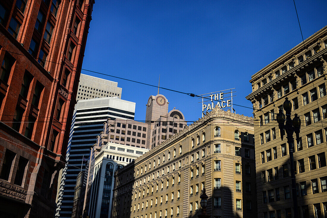
[[(283, 140), (284, 137), (284, 129), (286, 131), (286, 138), (288, 143), (288, 149), (289, 149), (289, 160), (290, 160), (290, 171), (291, 171), (291, 187), (292, 187), (292, 197), (293, 197), (293, 208), (294, 208), (294, 218), (298, 218), (298, 199), (296, 194), (296, 183), (295, 183), (295, 172), (294, 172), (294, 159), (293, 159), (293, 144), (294, 144), (294, 138), (293, 133), (296, 134), (296, 141), (299, 142), (299, 133), (300, 133), (300, 127), (301, 127), (301, 120), (297, 114), (294, 115), (293, 120), (291, 119), (291, 108), (292, 104), (288, 100), (288, 98), (285, 98), (285, 101), (283, 103), (283, 108), (285, 109), (286, 117), (283, 114), (283, 111), (280, 109), (279, 113), (277, 114), (277, 122), (278, 127), (281, 130), (281, 139)], [(286, 122), (285, 122), (286, 121)], [(295, 148), (295, 145), (294, 145)]]

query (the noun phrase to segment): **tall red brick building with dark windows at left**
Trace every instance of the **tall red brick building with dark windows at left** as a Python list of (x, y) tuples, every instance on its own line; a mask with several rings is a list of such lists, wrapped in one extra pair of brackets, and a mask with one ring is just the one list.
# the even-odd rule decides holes
[(0, 1), (0, 217), (52, 217), (94, 0)]

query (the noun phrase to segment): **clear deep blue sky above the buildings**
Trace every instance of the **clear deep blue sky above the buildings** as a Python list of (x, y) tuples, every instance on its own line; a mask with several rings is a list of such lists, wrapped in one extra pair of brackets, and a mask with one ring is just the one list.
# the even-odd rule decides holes
[[(295, 1), (303, 38), (327, 25), (327, 1)], [(193, 1), (95, 0), (83, 69), (128, 78), (186, 93), (236, 88), (234, 104), (245, 99), (249, 80), (301, 43), (293, 0)], [(146, 102), (158, 89), (82, 71), (118, 82), (122, 99), (136, 103), (135, 120), (144, 120)], [(201, 117), (197, 97), (161, 89), (169, 110), (185, 119)], [(252, 109), (234, 106), (252, 116)]]

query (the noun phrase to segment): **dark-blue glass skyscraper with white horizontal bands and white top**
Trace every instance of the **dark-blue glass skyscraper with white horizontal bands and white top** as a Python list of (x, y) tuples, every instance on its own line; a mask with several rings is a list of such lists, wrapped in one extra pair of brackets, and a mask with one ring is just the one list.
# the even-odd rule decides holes
[[(60, 181), (56, 217), (71, 217), (76, 177), (81, 170), (83, 157), (89, 158), (90, 148), (103, 131), (103, 124), (107, 119), (134, 120), (134, 112), (134, 102), (115, 97), (78, 101), (69, 135), (67, 164)], [(82, 169), (85, 169), (85, 164)]]

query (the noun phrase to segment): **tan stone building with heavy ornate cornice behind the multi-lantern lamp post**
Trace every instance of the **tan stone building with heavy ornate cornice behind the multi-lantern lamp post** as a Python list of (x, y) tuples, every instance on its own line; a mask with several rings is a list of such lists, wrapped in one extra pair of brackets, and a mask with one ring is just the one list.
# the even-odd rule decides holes
[(253, 103), (257, 120), (258, 217), (294, 214), (289, 149), (276, 122), (285, 97), (292, 103), (291, 114), (297, 113), (302, 122), (300, 143), (294, 143), (293, 163), (300, 217), (327, 217), (326, 60), (327, 26), (251, 77), (253, 91), (246, 98)]

